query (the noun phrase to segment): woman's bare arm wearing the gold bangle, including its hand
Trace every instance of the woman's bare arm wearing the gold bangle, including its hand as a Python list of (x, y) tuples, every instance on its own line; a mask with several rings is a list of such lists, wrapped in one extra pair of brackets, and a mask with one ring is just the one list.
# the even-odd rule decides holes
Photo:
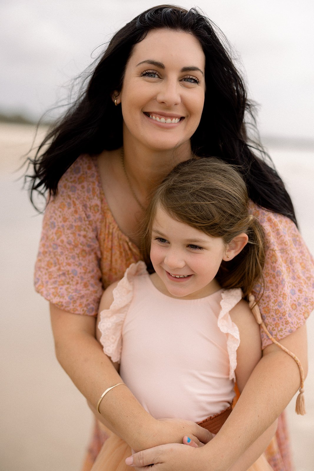
[[(95, 317), (79, 316), (50, 304), (56, 357), (74, 384), (96, 408), (108, 387), (122, 382), (95, 338)], [(148, 414), (126, 386), (109, 391), (100, 403), (101, 415), (134, 450), (163, 443), (182, 443), (184, 435), (206, 443), (211, 434), (188, 421), (158, 421)], [(190, 436), (190, 435), (189, 435)]]

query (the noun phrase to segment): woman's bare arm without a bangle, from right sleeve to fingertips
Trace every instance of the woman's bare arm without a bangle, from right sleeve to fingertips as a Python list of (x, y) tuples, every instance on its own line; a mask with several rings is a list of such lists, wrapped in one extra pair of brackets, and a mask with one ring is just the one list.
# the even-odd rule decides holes
[[(281, 340), (300, 359), (307, 374), (306, 326)], [(160, 463), (160, 471), (226, 471), (237, 463), (250, 445), (275, 422), (300, 385), (295, 361), (275, 345), (263, 357), (245, 384), (232, 414), (219, 433), (204, 447), (167, 445), (133, 456), (133, 466)], [(129, 463), (130, 464), (130, 463)], [(205, 468), (201, 468), (205, 466)]]

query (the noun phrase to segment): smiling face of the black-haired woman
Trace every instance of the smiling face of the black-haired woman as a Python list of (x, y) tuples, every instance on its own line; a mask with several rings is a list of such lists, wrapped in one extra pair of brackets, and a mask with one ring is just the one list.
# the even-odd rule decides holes
[(150, 31), (135, 45), (118, 97), (124, 142), (167, 150), (189, 141), (201, 120), (205, 56), (186, 32)]

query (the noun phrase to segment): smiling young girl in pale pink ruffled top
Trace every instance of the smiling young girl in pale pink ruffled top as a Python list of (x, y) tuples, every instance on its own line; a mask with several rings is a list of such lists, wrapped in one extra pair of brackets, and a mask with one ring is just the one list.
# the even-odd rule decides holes
[[(240, 174), (216, 159), (179, 164), (155, 192), (145, 227), (154, 273), (132, 264), (100, 302), (97, 338), (124, 382), (114, 387), (127, 385), (155, 419), (184, 417), (217, 433), (231, 412), (234, 380), (241, 392), (261, 357), (258, 323), (242, 297), (257, 282), (262, 290), (262, 228)], [(107, 407), (105, 395), (98, 409)], [(258, 456), (274, 432), (275, 424), (230, 470), (257, 459), (250, 469), (272, 469)], [(184, 451), (182, 469), (190, 470), (195, 452)], [(197, 450), (199, 470), (206, 451)], [(92, 469), (127, 468), (129, 453), (113, 434)]]

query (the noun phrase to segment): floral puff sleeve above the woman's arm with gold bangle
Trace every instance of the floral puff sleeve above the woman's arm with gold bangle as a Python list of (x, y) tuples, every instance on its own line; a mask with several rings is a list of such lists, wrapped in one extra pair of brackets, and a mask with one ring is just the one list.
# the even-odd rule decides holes
[(103, 292), (100, 215), (95, 163), (81, 156), (64, 173), (47, 205), (34, 274), (37, 292), (75, 314), (96, 315)]

